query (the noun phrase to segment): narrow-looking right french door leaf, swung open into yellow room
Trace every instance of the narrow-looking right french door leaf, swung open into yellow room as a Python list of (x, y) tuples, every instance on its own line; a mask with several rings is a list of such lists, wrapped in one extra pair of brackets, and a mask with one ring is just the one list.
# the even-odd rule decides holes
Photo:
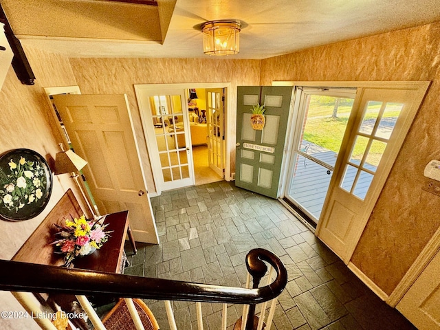
[(224, 177), (225, 91), (223, 88), (206, 89), (206, 113), (208, 164), (217, 175)]

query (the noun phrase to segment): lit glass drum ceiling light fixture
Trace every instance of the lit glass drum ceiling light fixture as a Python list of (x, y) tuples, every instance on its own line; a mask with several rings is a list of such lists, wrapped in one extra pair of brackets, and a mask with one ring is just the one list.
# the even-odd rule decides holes
[(239, 21), (209, 21), (201, 25), (203, 53), (207, 55), (233, 55), (240, 52)]

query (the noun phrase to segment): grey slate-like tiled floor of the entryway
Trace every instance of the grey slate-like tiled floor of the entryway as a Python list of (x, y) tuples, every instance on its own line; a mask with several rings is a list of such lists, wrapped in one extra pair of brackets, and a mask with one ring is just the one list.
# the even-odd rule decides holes
[[(151, 199), (159, 245), (138, 243), (125, 274), (244, 287), (245, 255), (265, 248), (287, 267), (272, 329), (415, 329), (377, 298), (281, 203), (234, 182), (163, 192)], [(162, 330), (164, 302), (147, 300)], [(221, 329), (221, 304), (203, 303), (204, 329)], [(229, 305), (228, 329), (242, 305)], [(175, 302), (177, 329), (197, 329), (195, 303)]]

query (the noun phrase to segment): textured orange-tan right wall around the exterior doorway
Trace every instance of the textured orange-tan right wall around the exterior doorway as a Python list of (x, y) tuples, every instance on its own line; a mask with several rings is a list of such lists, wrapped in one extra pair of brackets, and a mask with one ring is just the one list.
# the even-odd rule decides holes
[(262, 61), (273, 80), (431, 80), (352, 262), (384, 292), (393, 289), (440, 225), (440, 197), (421, 190), (440, 158), (440, 23), (316, 47)]

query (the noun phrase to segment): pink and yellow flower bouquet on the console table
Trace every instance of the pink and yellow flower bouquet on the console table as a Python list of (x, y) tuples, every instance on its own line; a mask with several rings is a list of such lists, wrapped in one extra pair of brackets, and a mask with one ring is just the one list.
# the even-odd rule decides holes
[(65, 225), (56, 225), (58, 232), (55, 234), (60, 237), (52, 244), (58, 248), (55, 253), (65, 254), (65, 266), (69, 267), (77, 256), (87, 256), (109, 239), (109, 232), (104, 232), (108, 223), (102, 224), (104, 218), (98, 220), (87, 220), (83, 215), (73, 221), (65, 220)]

